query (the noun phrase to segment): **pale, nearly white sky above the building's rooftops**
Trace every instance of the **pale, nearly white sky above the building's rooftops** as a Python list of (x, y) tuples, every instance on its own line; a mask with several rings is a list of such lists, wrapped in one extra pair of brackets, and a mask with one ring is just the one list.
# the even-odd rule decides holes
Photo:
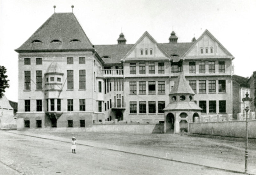
[(208, 29), (235, 57), (234, 73), (256, 71), (256, 0), (0, 0), (0, 65), (7, 69), (5, 95), (18, 101), (20, 47), (55, 12), (73, 12), (92, 44), (116, 44), (121, 31), (134, 44), (148, 31), (156, 42), (191, 42)]

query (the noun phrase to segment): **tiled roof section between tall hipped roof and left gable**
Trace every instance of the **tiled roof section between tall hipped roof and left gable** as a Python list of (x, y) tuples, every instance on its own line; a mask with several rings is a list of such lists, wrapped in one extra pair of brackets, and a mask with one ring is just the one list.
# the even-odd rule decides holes
[(133, 44), (114, 44), (114, 45), (94, 45), (96, 52), (102, 58), (105, 64), (121, 63), (120, 60), (132, 48)]

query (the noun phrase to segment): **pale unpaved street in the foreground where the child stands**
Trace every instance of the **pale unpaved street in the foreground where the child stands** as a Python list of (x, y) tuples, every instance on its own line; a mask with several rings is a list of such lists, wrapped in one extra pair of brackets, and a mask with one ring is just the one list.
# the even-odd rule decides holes
[(0, 131), (0, 155), (1, 174), (232, 174), (82, 145), (72, 154), (71, 143), (4, 131)]

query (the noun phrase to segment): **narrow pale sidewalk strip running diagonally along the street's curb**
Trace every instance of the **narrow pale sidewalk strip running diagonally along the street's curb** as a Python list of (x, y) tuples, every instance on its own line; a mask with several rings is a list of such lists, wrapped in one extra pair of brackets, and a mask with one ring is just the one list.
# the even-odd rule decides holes
[[(70, 139), (56, 137), (53, 135), (43, 135), (43, 134), (20, 132), (20, 131), (6, 131), (6, 132), (70, 143)], [(176, 161), (176, 162), (205, 166), (205, 167), (209, 167), (209, 168), (217, 168), (220, 170), (230, 171), (230, 172), (238, 172), (238, 173), (244, 172), (244, 164), (221, 162), (221, 161), (205, 159), (205, 158), (200, 158), (200, 157), (175, 154), (175, 153), (171, 153), (171, 152), (160, 152), (157, 150), (151, 151), (151, 150), (147, 150), (147, 149), (143, 149), (143, 148), (130, 148), (130, 147), (116, 146), (116, 145), (111, 145), (111, 144), (97, 143), (97, 142), (92, 142), (92, 141), (82, 141), (82, 140), (79, 140), (78, 145), (85, 145), (85, 146), (120, 151), (120, 152), (125, 152), (125, 153), (130, 153), (130, 154), (137, 154), (137, 155), (142, 155), (142, 156), (155, 157), (155, 158), (159, 158), (159, 159), (172, 160), (172, 161)], [(256, 174), (256, 166), (248, 166), (248, 173)]]

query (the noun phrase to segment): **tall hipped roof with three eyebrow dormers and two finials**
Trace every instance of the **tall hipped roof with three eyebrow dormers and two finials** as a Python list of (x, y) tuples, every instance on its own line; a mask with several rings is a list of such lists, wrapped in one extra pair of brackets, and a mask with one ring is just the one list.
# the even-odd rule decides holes
[[(40, 42), (33, 42), (39, 40)], [(52, 42), (59, 40), (60, 42)], [(72, 42), (72, 40), (74, 40)], [(53, 13), (29, 39), (15, 51), (93, 50), (73, 13)]]

